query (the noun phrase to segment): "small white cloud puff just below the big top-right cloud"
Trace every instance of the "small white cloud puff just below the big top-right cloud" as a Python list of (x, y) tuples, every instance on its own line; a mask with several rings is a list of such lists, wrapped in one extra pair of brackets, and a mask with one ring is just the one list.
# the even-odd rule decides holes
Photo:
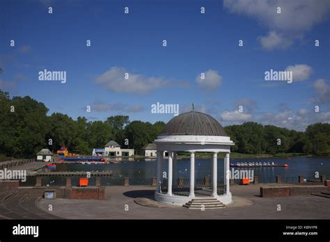
[(280, 33), (276, 33), (276, 31), (270, 31), (268, 35), (260, 36), (258, 40), (260, 40), (262, 48), (267, 50), (285, 49), (287, 47), (290, 47), (293, 42), (289, 38), (285, 38)]

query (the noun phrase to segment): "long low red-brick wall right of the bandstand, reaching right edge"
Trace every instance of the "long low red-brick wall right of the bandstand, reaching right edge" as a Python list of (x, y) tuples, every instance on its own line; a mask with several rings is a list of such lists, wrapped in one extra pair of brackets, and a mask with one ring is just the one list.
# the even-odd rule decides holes
[(295, 195), (311, 195), (312, 193), (321, 193), (330, 191), (327, 186), (267, 186), (260, 187), (261, 197), (281, 197)]

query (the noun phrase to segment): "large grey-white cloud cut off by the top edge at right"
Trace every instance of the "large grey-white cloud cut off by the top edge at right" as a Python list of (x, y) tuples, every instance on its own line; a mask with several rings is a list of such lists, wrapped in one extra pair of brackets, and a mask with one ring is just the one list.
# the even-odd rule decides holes
[[(322, 22), (330, 12), (330, 1), (224, 0), (232, 13), (253, 17), (270, 29), (301, 33)], [(281, 14), (277, 8), (281, 7)]]

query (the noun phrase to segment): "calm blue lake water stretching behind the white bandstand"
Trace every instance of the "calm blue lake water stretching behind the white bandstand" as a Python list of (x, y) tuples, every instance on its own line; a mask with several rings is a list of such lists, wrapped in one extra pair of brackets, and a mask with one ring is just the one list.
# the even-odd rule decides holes
[[(275, 182), (276, 175), (281, 175), (283, 182), (297, 182), (298, 175), (304, 175), (307, 179), (315, 179), (315, 172), (320, 175), (330, 177), (330, 158), (329, 157), (297, 157), (286, 161), (282, 158), (268, 159), (230, 159), (230, 163), (236, 162), (274, 162), (289, 165), (288, 168), (249, 168), (253, 169), (254, 175), (259, 177), (259, 182)], [(167, 172), (167, 159), (164, 160), (164, 172)], [(47, 168), (45, 168), (47, 169)], [(231, 170), (232, 168), (230, 168)], [(237, 169), (237, 168), (235, 168)], [(48, 169), (47, 169), (48, 170)], [(55, 169), (54, 169), (55, 170)], [(130, 184), (143, 185), (150, 184), (151, 178), (156, 177), (156, 161), (150, 159), (136, 159), (135, 161), (120, 161), (120, 163), (104, 165), (82, 165), (79, 163), (58, 164), (56, 171), (105, 171), (112, 170), (111, 177), (102, 177), (101, 183), (105, 185), (121, 185), (123, 178), (129, 177)], [(195, 161), (196, 179), (210, 176), (212, 173), (211, 159), (196, 159)], [(190, 165), (189, 159), (178, 160), (178, 176), (189, 178)], [(72, 177), (72, 184), (78, 184), (79, 177)], [(218, 179), (223, 180), (223, 159), (218, 159)], [(237, 181), (238, 182), (238, 181)], [(35, 178), (29, 178), (23, 186), (35, 184)], [(65, 177), (42, 177), (43, 185), (64, 185)], [(90, 184), (95, 184), (95, 178), (90, 179)]]

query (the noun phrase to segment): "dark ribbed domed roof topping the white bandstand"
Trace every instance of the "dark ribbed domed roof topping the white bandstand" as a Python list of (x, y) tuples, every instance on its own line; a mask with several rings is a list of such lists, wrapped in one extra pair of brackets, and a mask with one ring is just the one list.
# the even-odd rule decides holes
[(217, 120), (195, 111), (172, 118), (162, 130), (162, 135), (227, 136)]

